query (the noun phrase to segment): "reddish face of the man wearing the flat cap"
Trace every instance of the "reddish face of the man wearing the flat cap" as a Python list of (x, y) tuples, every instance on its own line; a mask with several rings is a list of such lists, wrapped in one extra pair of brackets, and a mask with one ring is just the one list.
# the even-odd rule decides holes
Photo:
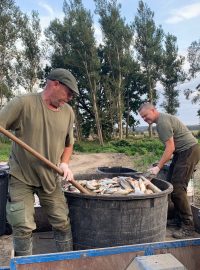
[(64, 106), (73, 98), (73, 92), (66, 85), (55, 81), (54, 91), (51, 95), (51, 105), (55, 108)]

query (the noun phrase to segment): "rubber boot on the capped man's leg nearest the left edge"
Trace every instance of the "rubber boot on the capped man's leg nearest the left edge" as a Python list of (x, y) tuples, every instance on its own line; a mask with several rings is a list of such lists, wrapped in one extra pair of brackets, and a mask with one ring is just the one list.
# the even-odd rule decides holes
[(28, 256), (32, 255), (32, 236), (14, 236), (13, 245), (15, 256)]

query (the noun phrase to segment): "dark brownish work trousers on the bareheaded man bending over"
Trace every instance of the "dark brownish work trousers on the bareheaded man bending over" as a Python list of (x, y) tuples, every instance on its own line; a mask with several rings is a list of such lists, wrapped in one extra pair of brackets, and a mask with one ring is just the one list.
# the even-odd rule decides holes
[(200, 145), (175, 153), (170, 164), (167, 181), (173, 185), (171, 200), (177, 217), (186, 225), (193, 225), (191, 207), (187, 198), (187, 186), (200, 160)]

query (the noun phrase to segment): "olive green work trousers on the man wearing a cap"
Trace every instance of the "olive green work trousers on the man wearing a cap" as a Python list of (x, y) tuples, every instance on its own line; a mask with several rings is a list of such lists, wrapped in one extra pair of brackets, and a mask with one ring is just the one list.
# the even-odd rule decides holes
[(34, 193), (38, 195), (40, 205), (47, 213), (53, 230), (65, 232), (71, 229), (68, 217), (69, 210), (59, 182), (57, 182), (54, 192), (47, 194), (42, 187), (26, 185), (15, 177), (10, 176), (9, 199), (6, 209), (7, 219), (12, 225), (14, 237), (30, 236), (32, 231), (36, 229)]

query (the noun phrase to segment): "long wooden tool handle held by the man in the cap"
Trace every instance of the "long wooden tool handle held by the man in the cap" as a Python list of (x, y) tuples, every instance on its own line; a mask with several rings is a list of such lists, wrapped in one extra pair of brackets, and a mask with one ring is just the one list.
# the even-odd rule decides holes
[[(47, 158), (43, 157), (40, 153), (35, 151), (32, 147), (30, 147), (28, 144), (23, 142), (22, 140), (18, 139), (15, 135), (13, 135), (11, 132), (6, 130), (5, 128), (0, 126), (0, 132), (3, 133), (5, 136), (10, 138), (12, 141), (16, 142), (19, 144), (21, 147), (26, 149), (29, 153), (31, 153), (33, 156), (38, 158), (39, 160), (43, 161), (47, 166), (49, 166), (51, 169), (56, 171), (59, 175), (63, 175), (63, 170), (61, 170), (58, 166), (53, 164), (51, 161), (49, 161)], [(90, 192), (85, 189), (83, 186), (81, 186), (77, 181), (75, 180), (70, 180), (70, 183), (72, 183), (73, 186), (75, 186), (80, 192), (85, 193), (85, 194), (90, 194)]]

